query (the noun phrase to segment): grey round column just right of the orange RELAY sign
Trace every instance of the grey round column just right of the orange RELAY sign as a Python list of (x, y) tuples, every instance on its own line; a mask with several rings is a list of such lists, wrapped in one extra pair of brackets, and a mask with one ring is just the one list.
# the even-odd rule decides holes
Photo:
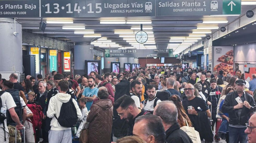
[[(93, 45), (92, 45), (93, 46)], [(93, 60), (93, 50), (90, 50), (90, 43), (75, 43), (74, 46), (74, 59), (75, 70), (74, 74), (85, 73), (85, 60)]]

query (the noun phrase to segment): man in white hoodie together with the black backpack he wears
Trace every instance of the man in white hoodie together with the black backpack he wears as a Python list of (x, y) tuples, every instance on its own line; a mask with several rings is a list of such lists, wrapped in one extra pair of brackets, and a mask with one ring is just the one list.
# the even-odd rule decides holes
[(48, 141), (72, 142), (71, 127), (82, 119), (82, 113), (75, 99), (66, 93), (68, 81), (61, 80), (58, 85), (59, 93), (50, 99), (47, 111), (47, 117), (53, 118)]

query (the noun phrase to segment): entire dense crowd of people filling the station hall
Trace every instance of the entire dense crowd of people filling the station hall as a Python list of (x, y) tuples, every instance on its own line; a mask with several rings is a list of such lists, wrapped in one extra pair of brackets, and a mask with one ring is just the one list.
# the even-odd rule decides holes
[[(90, 143), (256, 142), (256, 74), (173, 67), (89, 75), (0, 74), (0, 142), (25, 128), (26, 142), (71, 143), (88, 128)], [(7, 112), (6, 112), (7, 111)], [(4, 118), (5, 117), (5, 118)], [(76, 128), (79, 126), (79, 128)], [(214, 128), (215, 126), (215, 128)], [(189, 130), (199, 133), (191, 137)], [(213, 133), (215, 131), (215, 134)]]

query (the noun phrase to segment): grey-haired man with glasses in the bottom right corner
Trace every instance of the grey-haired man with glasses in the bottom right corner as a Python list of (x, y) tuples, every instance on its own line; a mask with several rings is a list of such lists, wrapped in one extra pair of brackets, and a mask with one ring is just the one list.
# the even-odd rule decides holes
[(249, 119), (249, 123), (246, 123), (247, 140), (249, 143), (256, 143), (256, 113), (254, 113)]

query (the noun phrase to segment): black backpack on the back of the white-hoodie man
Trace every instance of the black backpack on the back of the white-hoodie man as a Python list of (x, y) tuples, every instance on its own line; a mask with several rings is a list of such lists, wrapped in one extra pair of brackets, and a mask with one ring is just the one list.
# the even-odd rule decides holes
[(63, 127), (73, 127), (77, 124), (77, 110), (72, 100), (73, 98), (71, 97), (67, 103), (62, 103), (59, 118), (54, 114), (59, 124)]

